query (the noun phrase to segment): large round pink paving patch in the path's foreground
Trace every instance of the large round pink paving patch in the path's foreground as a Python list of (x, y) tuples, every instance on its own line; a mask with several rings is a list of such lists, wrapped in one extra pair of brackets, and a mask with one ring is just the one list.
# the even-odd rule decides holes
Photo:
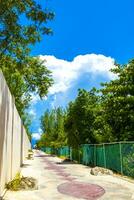
[(96, 200), (105, 193), (105, 190), (98, 185), (76, 181), (63, 183), (57, 189), (62, 194), (86, 200)]

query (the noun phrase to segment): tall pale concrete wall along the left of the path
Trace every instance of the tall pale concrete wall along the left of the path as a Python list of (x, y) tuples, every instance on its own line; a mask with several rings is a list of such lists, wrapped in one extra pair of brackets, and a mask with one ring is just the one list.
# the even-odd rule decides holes
[(0, 72), (0, 196), (12, 180), (31, 148), (27, 133)]

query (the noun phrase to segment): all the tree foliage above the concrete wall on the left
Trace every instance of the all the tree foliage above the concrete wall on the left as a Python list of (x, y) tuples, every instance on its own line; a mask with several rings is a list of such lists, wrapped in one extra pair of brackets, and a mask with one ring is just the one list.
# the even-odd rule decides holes
[(42, 98), (53, 83), (43, 62), (30, 56), (30, 47), (52, 33), (46, 24), (53, 17), (35, 0), (0, 1), (0, 69), (25, 124), (29, 123), (25, 110), (32, 94)]

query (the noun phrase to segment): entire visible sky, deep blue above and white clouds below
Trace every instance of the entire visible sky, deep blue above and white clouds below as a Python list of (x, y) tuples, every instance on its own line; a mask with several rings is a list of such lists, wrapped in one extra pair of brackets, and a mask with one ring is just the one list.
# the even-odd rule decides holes
[(133, 0), (38, 0), (55, 12), (48, 23), (53, 36), (32, 47), (31, 54), (46, 60), (54, 85), (42, 101), (33, 96), (29, 113), (35, 139), (41, 134), (40, 117), (46, 109), (66, 107), (78, 88), (90, 90), (110, 81), (114, 62), (134, 57)]

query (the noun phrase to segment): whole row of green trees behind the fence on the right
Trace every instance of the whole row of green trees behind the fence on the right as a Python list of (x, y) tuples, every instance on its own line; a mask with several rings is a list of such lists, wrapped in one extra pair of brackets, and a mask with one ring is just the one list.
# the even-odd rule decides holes
[(100, 90), (80, 89), (66, 112), (58, 108), (42, 116), (38, 147), (134, 140), (134, 60), (112, 71), (116, 79)]

